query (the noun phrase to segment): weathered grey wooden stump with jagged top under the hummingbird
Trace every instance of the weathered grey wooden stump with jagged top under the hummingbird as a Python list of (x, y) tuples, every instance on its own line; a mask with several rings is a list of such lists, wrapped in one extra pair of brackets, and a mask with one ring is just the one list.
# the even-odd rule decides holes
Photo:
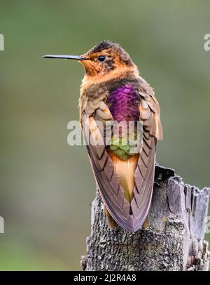
[(97, 191), (83, 270), (208, 270), (204, 232), (209, 193), (209, 188), (185, 185), (172, 169), (157, 165), (150, 225), (130, 233), (120, 227), (109, 230)]

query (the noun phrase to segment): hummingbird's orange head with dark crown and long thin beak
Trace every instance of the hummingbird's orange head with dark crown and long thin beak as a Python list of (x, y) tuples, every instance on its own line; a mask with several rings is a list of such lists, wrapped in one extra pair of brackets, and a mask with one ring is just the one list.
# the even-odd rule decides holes
[(85, 67), (85, 77), (109, 79), (121, 77), (130, 72), (138, 74), (137, 66), (130, 55), (118, 44), (102, 41), (83, 55), (45, 55), (44, 58), (64, 58), (78, 60)]

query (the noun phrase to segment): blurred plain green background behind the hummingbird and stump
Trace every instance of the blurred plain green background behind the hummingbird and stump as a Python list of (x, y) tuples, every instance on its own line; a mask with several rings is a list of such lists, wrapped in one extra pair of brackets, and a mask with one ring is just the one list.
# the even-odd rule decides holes
[(204, 0), (1, 0), (0, 270), (80, 270), (90, 234), (94, 179), (85, 147), (66, 143), (83, 68), (41, 55), (120, 43), (160, 102), (158, 163), (210, 185), (209, 11)]

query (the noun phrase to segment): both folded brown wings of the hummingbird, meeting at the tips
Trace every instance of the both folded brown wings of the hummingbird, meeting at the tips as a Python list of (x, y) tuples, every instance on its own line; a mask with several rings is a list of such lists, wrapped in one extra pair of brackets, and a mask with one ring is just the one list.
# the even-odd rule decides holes
[[(136, 232), (144, 223), (151, 204), (155, 168), (155, 146), (162, 139), (160, 109), (150, 92), (139, 90), (139, 113), (143, 125), (142, 147), (134, 172), (134, 195), (131, 203), (124, 197), (120, 178), (106, 148), (102, 126), (111, 129), (113, 118), (103, 100), (87, 100), (82, 114), (82, 128), (94, 177), (104, 204), (116, 223), (130, 232)], [(109, 136), (109, 135), (108, 135)]]

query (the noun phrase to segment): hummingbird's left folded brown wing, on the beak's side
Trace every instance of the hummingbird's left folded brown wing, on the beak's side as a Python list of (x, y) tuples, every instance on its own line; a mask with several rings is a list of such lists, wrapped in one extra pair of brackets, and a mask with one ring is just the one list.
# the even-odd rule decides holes
[[(114, 166), (104, 144), (104, 138), (99, 128), (99, 123), (111, 123), (112, 116), (104, 102), (94, 105), (88, 101), (82, 117), (83, 133), (87, 143), (87, 150), (92, 164), (94, 177), (99, 187), (104, 204), (118, 225), (126, 230), (129, 227), (130, 203), (124, 198), (124, 190), (120, 186), (119, 176), (114, 171)], [(87, 138), (89, 135), (89, 138)]]

